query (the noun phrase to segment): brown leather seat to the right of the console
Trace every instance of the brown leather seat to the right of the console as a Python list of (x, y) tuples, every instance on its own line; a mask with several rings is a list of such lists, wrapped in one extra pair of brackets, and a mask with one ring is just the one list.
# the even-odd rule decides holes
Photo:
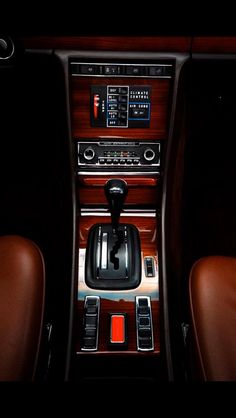
[(197, 261), (189, 281), (197, 355), (204, 380), (236, 380), (236, 258)]

